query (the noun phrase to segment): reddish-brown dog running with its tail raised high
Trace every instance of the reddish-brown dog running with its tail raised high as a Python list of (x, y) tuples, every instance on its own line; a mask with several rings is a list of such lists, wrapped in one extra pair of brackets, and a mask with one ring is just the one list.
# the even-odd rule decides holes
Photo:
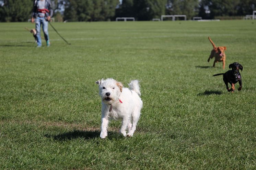
[(215, 63), (222, 62), (222, 67), (224, 69), (225, 61), (226, 61), (226, 55), (225, 55), (226, 47), (224, 47), (224, 46), (216, 47), (216, 45), (212, 42), (211, 38), (208, 37), (208, 39), (210, 40), (210, 42), (213, 46), (211, 54), (208, 58), (208, 62), (210, 61), (211, 58), (215, 57), (214, 62), (213, 62), (213, 67), (215, 67)]

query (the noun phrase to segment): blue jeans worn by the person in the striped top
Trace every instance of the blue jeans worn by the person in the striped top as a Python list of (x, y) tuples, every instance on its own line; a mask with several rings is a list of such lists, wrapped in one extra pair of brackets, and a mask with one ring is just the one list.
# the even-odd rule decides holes
[(35, 23), (36, 23), (37, 46), (42, 46), (40, 29), (41, 29), (41, 25), (42, 25), (45, 40), (47, 42), (49, 40), (48, 21), (46, 21), (45, 17), (36, 17)]

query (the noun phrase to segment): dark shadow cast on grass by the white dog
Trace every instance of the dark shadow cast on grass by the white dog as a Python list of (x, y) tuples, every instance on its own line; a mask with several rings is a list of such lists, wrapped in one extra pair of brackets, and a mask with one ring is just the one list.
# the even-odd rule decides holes
[(58, 135), (45, 135), (47, 138), (53, 138), (57, 141), (66, 141), (77, 138), (84, 138), (85, 140), (90, 140), (93, 138), (98, 138), (100, 136), (100, 131), (81, 131), (81, 130), (73, 130), (66, 133), (61, 133)]

